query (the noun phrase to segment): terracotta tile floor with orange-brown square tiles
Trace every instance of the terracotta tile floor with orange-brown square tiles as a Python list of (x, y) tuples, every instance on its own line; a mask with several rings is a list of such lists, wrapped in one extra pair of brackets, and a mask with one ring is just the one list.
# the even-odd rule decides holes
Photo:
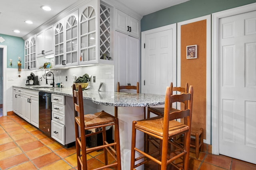
[[(87, 156), (88, 164), (102, 164), (102, 152)], [(75, 170), (75, 147), (64, 148), (17, 115), (0, 117), (0, 170)], [(156, 170), (150, 162), (145, 170)], [(172, 167), (170, 170), (174, 169)], [(255, 164), (222, 155), (190, 152), (190, 170), (256, 170)]]

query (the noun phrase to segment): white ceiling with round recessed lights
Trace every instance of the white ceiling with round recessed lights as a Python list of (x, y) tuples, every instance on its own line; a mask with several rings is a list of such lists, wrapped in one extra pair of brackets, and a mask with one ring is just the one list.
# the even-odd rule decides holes
[[(70, 6), (84, 0), (1, 0), (0, 33), (24, 37), (46, 21)], [(108, 0), (105, 0), (107, 2)], [(130, 8), (139, 16), (186, 2), (188, 0), (109, 0)], [(50, 6), (51, 11), (44, 11), (41, 6)], [(33, 24), (24, 21), (31, 20)], [(13, 32), (15, 29), (20, 33)]]

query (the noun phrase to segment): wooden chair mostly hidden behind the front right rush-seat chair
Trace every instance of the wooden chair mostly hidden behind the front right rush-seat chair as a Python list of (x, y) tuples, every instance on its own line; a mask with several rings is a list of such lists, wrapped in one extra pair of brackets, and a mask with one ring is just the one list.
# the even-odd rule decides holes
[[(176, 91), (176, 93), (188, 93), (188, 83), (186, 83), (185, 87), (173, 87), (173, 84), (171, 82), (170, 84), (170, 95), (172, 96), (172, 94)], [(187, 102), (184, 102), (184, 109), (187, 109), (188, 105)], [(177, 109), (172, 108), (172, 103), (170, 104), (170, 111), (178, 111)], [(147, 118), (150, 118), (150, 113), (154, 113), (157, 116), (164, 116), (164, 107), (148, 107), (148, 111), (147, 111)], [(159, 144), (159, 142), (154, 139), (154, 137), (149, 137), (148, 135), (146, 135), (146, 142), (145, 142), (145, 149), (146, 152), (149, 150), (149, 143), (151, 143), (153, 146), (158, 147), (157, 145), (155, 145), (152, 141), (154, 141), (155, 143)]]

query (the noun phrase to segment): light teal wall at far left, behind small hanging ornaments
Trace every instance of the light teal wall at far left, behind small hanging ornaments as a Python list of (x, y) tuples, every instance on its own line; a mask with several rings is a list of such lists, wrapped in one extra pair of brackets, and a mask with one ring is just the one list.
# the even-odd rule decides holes
[[(22, 68), (24, 68), (24, 40), (21, 37), (0, 34), (0, 37), (5, 39), (0, 45), (7, 46), (7, 68), (18, 68), (18, 57), (21, 58)], [(9, 59), (12, 59), (10, 66)]]

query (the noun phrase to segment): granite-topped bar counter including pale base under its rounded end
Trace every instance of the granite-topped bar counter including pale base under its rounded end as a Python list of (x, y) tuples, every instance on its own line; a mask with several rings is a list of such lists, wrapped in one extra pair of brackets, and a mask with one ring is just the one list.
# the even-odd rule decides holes
[[(38, 88), (40, 86), (13, 86), (29, 90), (49, 92), (64, 96), (73, 96), (72, 88)], [(118, 106), (121, 166), (123, 170), (130, 169), (132, 121), (144, 118), (144, 106), (157, 106), (164, 104), (164, 95), (137, 94), (122, 92), (98, 92), (96, 90), (84, 90), (83, 98), (93, 103), (104, 106)], [(144, 135), (138, 131), (136, 147), (144, 148)], [(143, 170), (144, 165), (137, 167)]]

